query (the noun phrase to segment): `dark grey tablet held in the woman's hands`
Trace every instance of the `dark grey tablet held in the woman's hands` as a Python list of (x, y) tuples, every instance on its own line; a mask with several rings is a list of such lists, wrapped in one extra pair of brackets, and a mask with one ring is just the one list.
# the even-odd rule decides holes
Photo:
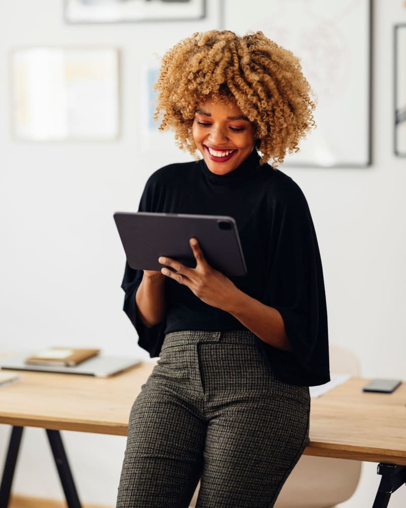
[(177, 213), (116, 212), (114, 220), (128, 265), (161, 270), (160, 256), (194, 268), (189, 239), (194, 237), (210, 266), (227, 277), (246, 275), (238, 230), (232, 217)]

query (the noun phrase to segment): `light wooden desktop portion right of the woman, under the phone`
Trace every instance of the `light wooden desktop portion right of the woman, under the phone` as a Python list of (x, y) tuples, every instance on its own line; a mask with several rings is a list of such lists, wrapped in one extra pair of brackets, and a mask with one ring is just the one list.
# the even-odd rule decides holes
[(406, 383), (393, 393), (365, 393), (352, 378), (312, 399), (306, 455), (406, 465)]

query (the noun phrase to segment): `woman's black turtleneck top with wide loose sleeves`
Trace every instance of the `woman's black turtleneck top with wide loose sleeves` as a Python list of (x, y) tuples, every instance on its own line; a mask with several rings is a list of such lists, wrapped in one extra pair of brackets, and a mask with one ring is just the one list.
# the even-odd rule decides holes
[[(282, 315), (292, 352), (258, 338), (261, 350), (284, 382), (321, 385), (329, 380), (327, 312), (323, 272), (309, 207), (298, 185), (279, 170), (259, 165), (254, 150), (225, 175), (203, 160), (165, 166), (148, 179), (139, 211), (228, 215), (238, 227), (247, 275), (233, 283)], [(178, 330), (241, 330), (231, 314), (203, 303), (182, 284), (165, 280), (166, 315), (148, 328), (137, 315), (135, 295), (143, 272), (125, 268), (124, 311), (139, 345), (159, 356), (165, 333)]]

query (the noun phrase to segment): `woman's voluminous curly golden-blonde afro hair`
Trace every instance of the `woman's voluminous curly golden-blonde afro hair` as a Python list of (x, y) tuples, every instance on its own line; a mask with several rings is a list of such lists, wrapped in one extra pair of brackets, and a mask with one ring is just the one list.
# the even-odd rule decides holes
[(261, 31), (210, 30), (180, 41), (163, 56), (154, 89), (159, 129), (174, 129), (178, 146), (193, 155), (194, 114), (208, 97), (234, 102), (253, 123), (261, 164), (282, 163), (315, 126), (299, 59)]

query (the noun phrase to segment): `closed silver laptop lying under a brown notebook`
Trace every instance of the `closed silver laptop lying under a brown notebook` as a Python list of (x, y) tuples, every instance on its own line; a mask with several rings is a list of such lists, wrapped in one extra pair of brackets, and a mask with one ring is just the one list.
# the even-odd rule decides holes
[(142, 362), (140, 358), (97, 355), (72, 367), (27, 365), (24, 363), (24, 360), (31, 355), (32, 352), (25, 352), (0, 358), (0, 367), (2, 369), (11, 370), (36, 370), (40, 372), (60, 372), (96, 377), (108, 377)]

